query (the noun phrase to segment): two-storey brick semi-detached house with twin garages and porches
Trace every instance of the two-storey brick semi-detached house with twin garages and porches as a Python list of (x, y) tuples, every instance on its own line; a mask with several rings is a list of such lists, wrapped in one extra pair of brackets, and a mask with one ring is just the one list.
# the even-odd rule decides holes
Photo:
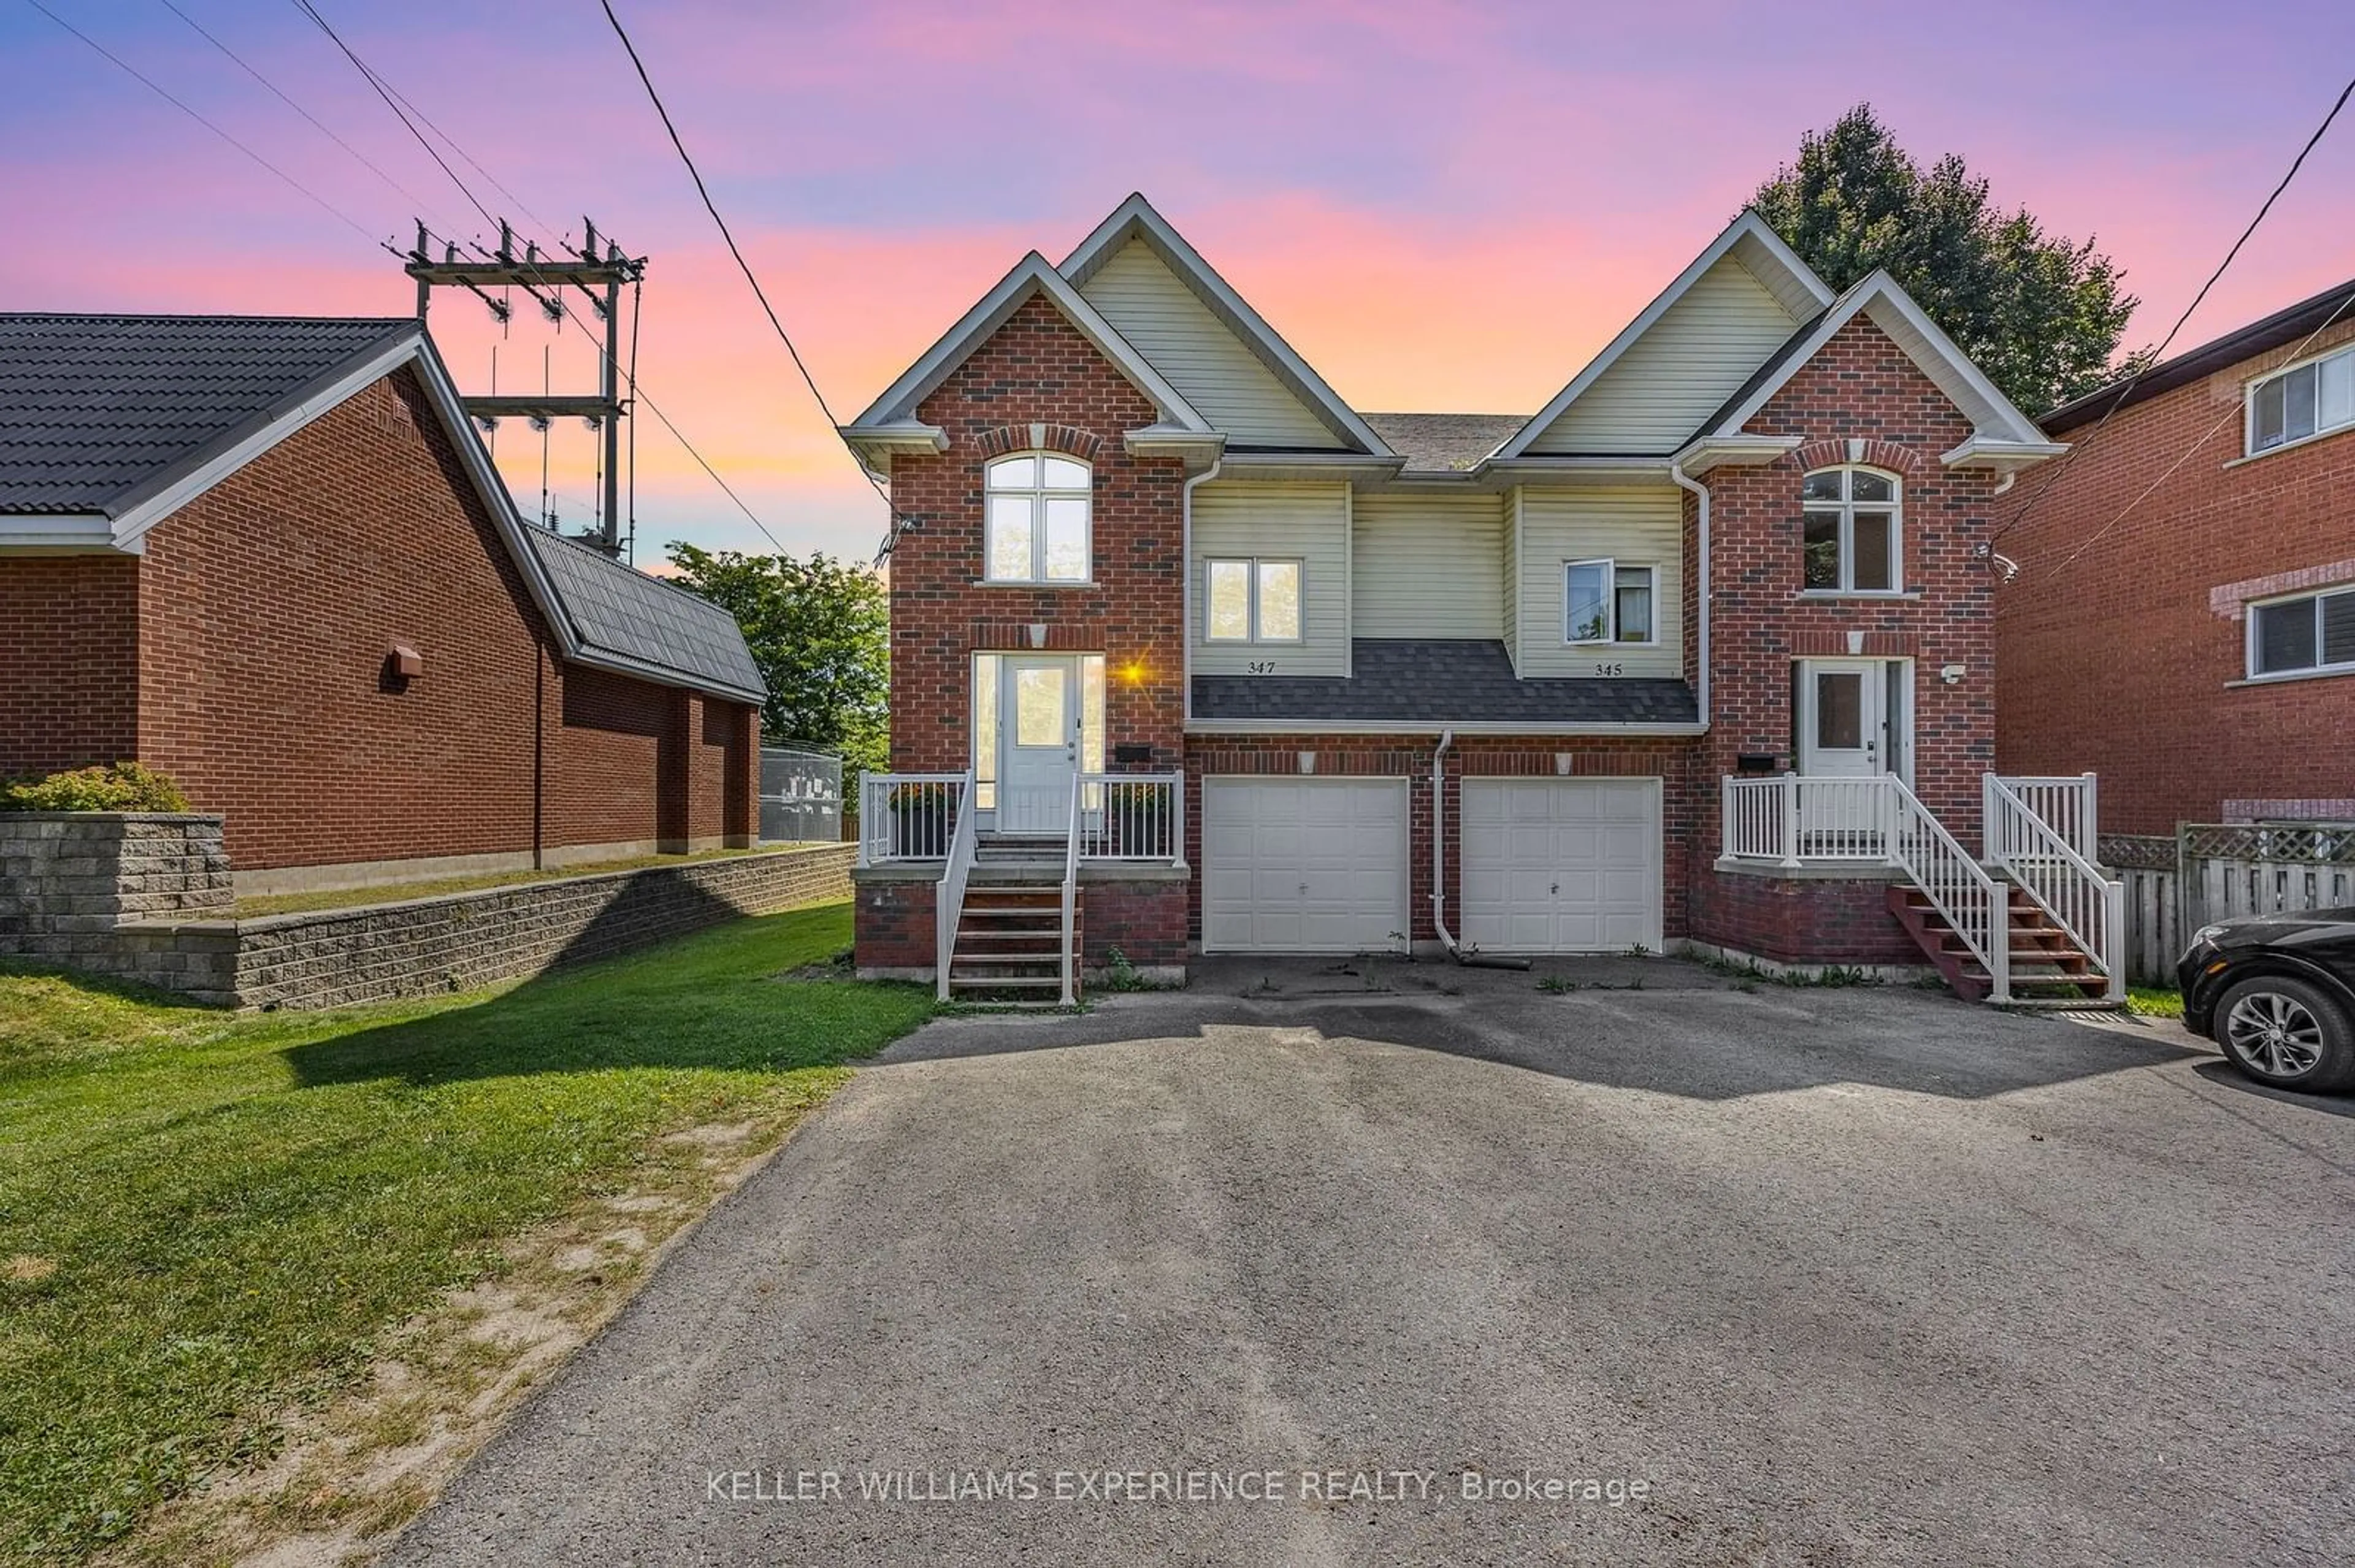
[(2061, 447), (1757, 217), (1535, 417), (1359, 414), (1130, 198), (843, 433), (895, 511), (867, 972), (1698, 946), (2105, 989), (2079, 796), (1985, 777), (1995, 497)]

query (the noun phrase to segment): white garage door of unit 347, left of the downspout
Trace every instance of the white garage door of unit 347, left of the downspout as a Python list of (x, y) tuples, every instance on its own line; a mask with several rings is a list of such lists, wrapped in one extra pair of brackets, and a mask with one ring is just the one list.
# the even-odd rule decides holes
[(1203, 779), (1201, 949), (1361, 954), (1406, 925), (1406, 779)]

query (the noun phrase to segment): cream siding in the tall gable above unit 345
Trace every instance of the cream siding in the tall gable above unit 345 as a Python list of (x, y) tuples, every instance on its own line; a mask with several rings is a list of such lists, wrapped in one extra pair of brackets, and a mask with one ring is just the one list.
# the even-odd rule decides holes
[(1799, 323), (1729, 254), (1627, 344), (1528, 450), (1674, 452), (1797, 330)]

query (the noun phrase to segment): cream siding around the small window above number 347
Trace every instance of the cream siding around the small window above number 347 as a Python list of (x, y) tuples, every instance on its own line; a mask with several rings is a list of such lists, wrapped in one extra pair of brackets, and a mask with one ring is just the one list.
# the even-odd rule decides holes
[[(1206, 643), (1206, 560), (1298, 560), (1298, 643)], [(1349, 673), (1349, 487), (1345, 483), (1225, 483), (1194, 492), (1194, 640), (1196, 676), (1347, 676)], [(1253, 664), (1274, 671), (1253, 671)]]

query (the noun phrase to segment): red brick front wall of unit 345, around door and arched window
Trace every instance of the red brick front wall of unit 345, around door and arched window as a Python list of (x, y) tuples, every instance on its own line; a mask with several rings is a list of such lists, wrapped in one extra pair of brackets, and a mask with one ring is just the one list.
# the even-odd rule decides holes
[[(1938, 454), (1971, 436), (1948, 403), (1877, 325), (1858, 315), (1832, 334), (1750, 424), (1806, 445), (1773, 464), (1707, 476), (1712, 551), (1710, 777), (1740, 753), (1792, 763), (1792, 662), (1806, 657), (1910, 657), (1912, 786), (1955, 838), (1978, 838), (1978, 777), (1995, 765), (1995, 570), (1978, 556), (1995, 530), (1997, 478), (1948, 469)], [(1903, 483), (1903, 584), (1919, 598), (1802, 596), (1809, 469), (1858, 461)], [(1851, 655), (1849, 638), (1860, 633)], [(1938, 671), (1962, 666), (1945, 685)]]

